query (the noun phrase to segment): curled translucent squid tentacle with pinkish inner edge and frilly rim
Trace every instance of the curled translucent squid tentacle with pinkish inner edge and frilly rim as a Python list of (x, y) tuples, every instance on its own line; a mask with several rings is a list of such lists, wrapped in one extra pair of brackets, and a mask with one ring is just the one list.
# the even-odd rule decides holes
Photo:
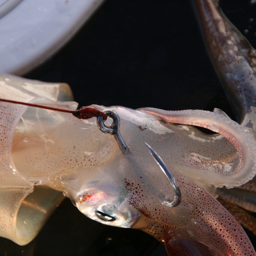
[[(256, 142), (248, 129), (231, 119), (210, 111), (180, 110), (167, 111), (156, 108), (140, 108), (140, 111), (157, 116), (169, 123), (195, 125), (210, 129), (226, 137), (237, 149), (240, 157), (236, 168), (227, 172), (208, 171), (203, 181), (216, 187), (233, 188), (251, 180), (256, 173)], [(212, 174), (212, 175), (211, 175)]]

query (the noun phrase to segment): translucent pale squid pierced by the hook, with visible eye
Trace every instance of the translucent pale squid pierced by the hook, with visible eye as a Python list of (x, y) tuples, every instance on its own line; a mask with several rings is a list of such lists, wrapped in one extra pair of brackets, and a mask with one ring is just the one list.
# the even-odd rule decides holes
[[(77, 108), (75, 102), (59, 101), (72, 99), (66, 84), (11, 75), (0, 77), (0, 98)], [(0, 236), (20, 245), (30, 242), (62, 200), (57, 191), (63, 191), (88, 217), (144, 230), (169, 253), (191, 255), (183, 247), (183, 239), (189, 239), (219, 255), (256, 255), (241, 226), (212, 196), (216, 187), (238, 186), (255, 176), (253, 135), (224, 115), (111, 107), (120, 116), (120, 132), (131, 152), (122, 154), (95, 118), (79, 120), (5, 102), (0, 108)], [(204, 134), (189, 124), (220, 134)], [(177, 207), (162, 204), (174, 192), (144, 142), (176, 178), (182, 195)]]

